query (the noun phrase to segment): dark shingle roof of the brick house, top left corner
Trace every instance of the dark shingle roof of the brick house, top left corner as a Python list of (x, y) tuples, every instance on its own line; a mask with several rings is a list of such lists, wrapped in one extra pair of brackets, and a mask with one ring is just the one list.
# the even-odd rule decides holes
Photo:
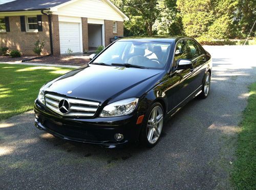
[(49, 9), (71, 0), (16, 0), (0, 5), (0, 12)]

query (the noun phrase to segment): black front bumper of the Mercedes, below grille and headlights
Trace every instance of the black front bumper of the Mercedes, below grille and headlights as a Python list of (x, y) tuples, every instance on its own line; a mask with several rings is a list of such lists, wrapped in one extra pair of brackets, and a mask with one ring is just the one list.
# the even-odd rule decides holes
[[(136, 125), (137, 114), (109, 118), (65, 118), (38, 100), (34, 103), (35, 126), (54, 136), (70, 141), (98, 144), (115, 148), (127, 143), (136, 142), (139, 138), (141, 124)], [(122, 141), (116, 141), (114, 135), (123, 134)]]

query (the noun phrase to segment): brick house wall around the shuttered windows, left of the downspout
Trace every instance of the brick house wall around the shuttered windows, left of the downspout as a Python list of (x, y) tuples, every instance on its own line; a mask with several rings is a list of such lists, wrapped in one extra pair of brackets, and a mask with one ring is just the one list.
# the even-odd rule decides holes
[(34, 43), (39, 39), (45, 41), (45, 48), (42, 55), (51, 53), (48, 17), (42, 15), (42, 32), (27, 33), (21, 32), (20, 17), (9, 16), (10, 32), (0, 33), (0, 46), (7, 46), (9, 49), (17, 49), (23, 55), (35, 55), (33, 52)]

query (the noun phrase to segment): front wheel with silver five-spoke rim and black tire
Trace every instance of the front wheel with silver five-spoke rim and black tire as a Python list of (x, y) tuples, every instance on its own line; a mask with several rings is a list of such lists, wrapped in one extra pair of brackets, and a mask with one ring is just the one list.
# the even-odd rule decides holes
[[(158, 119), (157, 119), (158, 118)], [(158, 120), (158, 121), (157, 121)], [(141, 145), (152, 148), (160, 139), (164, 123), (164, 110), (159, 102), (153, 103), (148, 109), (140, 133)]]

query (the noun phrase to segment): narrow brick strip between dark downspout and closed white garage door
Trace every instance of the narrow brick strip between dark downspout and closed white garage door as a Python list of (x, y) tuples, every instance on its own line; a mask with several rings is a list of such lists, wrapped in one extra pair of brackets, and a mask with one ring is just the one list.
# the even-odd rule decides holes
[(51, 15), (51, 21), (52, 21), (53, 55), (60, 55), (60, 46), (59, 46), (59, 18), (58, 18), (58, 15)]

